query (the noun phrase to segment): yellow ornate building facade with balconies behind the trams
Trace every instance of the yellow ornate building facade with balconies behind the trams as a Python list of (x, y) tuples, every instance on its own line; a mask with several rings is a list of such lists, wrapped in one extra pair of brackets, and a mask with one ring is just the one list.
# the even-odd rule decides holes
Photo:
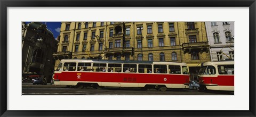
[(191, 73), (211, 61), (205, 22), (62, 22), (53, 56), (55, 67), (61, 59), (169, 61)]

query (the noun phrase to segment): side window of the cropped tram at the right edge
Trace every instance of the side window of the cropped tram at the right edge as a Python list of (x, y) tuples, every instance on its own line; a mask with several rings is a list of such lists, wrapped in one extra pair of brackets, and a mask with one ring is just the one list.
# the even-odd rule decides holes
[(235, 74), (234, 65), (218, 65), (219, 74)]

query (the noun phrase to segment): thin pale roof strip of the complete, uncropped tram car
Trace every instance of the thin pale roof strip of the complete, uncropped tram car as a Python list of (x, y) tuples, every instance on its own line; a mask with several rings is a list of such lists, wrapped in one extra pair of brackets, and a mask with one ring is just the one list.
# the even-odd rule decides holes
[(61, 61), (62, 61), (62, 62), (90, 62), (90, 63), (145, 63), (145, 64), (186, 65), (186, 63), (178, 63), (178, 62), (156, 62), (156, 61), (83, 60), (83, 59), (69, 59), (69, 60), (61, 60)]

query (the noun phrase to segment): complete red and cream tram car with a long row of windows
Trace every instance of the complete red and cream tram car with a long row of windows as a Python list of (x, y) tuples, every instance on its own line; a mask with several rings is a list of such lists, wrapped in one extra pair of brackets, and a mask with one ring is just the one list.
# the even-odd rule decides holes
[(151, 61), (61, 60), (55, 85), (76, 87), (188, 88), (186, 63)]

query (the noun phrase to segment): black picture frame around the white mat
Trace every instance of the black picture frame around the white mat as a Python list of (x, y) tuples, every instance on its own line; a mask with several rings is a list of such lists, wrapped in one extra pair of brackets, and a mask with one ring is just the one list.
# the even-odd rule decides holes
[[(1, 69), (0, 116), (255, 116), (255, 0), (0, 0)], [(7, 110), (7, 7), (250, 7), (250, 110), (249, 111), (9, 111)], [(200, 104), (200, 102), (197, 102)], [(203, 105), (202, 105), (203, 106)]]

